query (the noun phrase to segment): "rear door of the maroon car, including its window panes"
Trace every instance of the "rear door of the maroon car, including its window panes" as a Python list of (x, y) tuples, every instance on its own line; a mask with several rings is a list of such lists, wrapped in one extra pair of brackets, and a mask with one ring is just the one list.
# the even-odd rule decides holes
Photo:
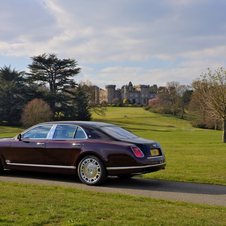
[(57, 125), (52, 139), (46, 144), (46, 163), (54, 168), (75, 168), (86, 139), (85, 132), (76, 125)]

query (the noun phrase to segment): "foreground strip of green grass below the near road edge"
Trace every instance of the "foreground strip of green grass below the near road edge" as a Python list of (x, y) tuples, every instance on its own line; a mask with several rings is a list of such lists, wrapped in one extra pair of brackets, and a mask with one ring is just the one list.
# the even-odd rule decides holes
[(0, 182), (0, 225), (225, 225), (226, 207)]

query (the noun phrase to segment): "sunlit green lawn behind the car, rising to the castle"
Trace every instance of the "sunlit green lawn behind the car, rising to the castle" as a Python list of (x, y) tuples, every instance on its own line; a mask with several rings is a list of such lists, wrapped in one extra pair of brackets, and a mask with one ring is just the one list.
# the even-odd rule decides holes
[(188, 121), (159, 115), (142, 108), (108, 108), (103, 118), (138, 136), (158, 141), (166, 155), (165, 170), (146, 178), (226, 185), (226, 144), (222, 131), (193, 128)]

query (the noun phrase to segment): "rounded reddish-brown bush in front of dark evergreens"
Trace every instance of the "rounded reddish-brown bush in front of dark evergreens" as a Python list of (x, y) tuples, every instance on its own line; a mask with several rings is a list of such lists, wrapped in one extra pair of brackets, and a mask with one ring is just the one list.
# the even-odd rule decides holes
[(42, 99), (35, 98), (24, 107), (21, 122), (25, 126), (33, 126), (50, 121), (52, 118), (53, 113), (50, 106)]

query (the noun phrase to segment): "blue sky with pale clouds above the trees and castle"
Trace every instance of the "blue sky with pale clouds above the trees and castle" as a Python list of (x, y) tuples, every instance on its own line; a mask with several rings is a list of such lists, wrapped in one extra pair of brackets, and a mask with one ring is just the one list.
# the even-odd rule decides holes
[(0, 67), (72, 58), (77, 83), (190, 85), (225, 68), (225, 0), (0, 0)]

